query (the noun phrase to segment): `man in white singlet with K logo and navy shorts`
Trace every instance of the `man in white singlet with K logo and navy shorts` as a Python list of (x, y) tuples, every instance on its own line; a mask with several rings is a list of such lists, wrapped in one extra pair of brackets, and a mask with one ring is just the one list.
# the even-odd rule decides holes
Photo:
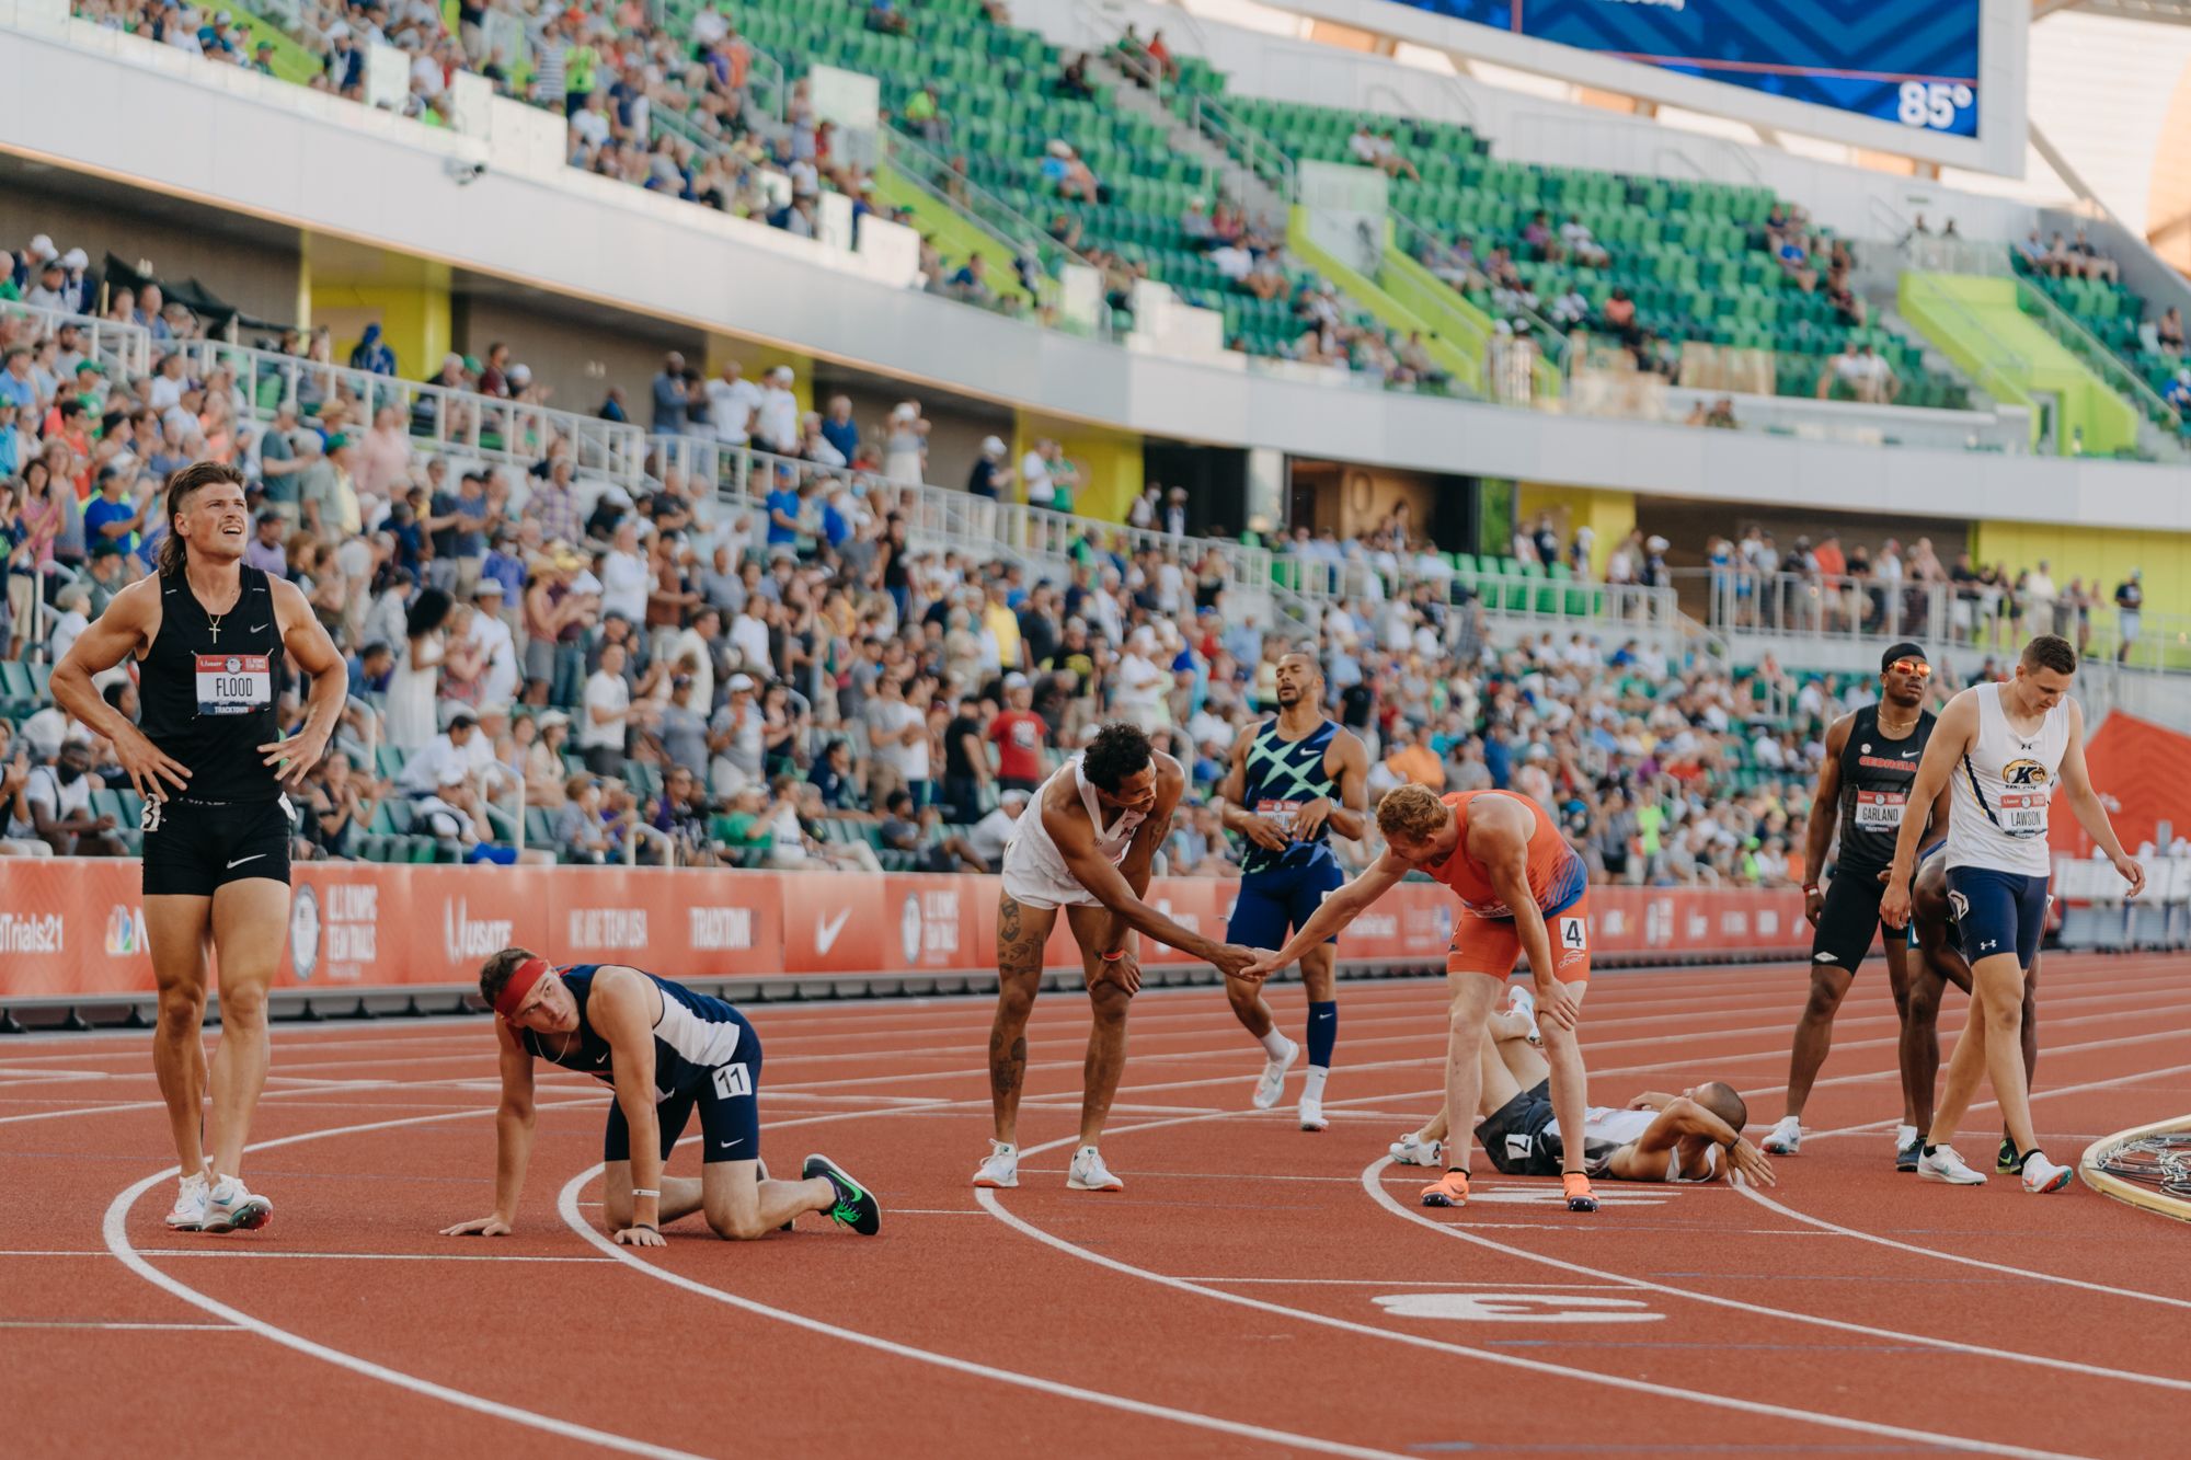
[[(1985, 1182), (1985, 1173), (1965, 1164), (1948, 1142), (1987, 1074), (2009, 1129), (1994, 1168), (2020, 1175), (2029, 1193), (2062, 1190), (2073, 1175), (2038, 1149), (2022, 1054), (2024, 976), (2038, 958), (2051, 901), (2046, 815), (2055, 783), (2068, 791), (2077, 824), (2130, 883), (2127, 897), (2145, 888), (2145, 868), (2123, 851), (2084, 767), (2084, 710), (2068, 697), (2075, 673), (2077, 651), (2066, 638), (2033, 638), (2016, 662), (2014, 680), (1974, 684), (1948, 702), (1917, 763), (1911, 805), (1930, 805), (1941, 785), (1954, 787), (1948, 903), (1970, 960), (1970, 1024), (1948, 1061), (1948, 1087), (1917, 1160), (1917, 1175), (1926, 1182)], [(1880, 899), (1880, 916), (1895, 927), (1911, 916), (1911, 868), (1922, 842), (1924, 820), (1902, 818), (1895, 864)]]

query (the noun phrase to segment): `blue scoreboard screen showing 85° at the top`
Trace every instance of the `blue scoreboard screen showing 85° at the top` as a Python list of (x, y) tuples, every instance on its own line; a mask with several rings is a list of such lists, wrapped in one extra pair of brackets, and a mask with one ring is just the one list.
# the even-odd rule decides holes
[(1617, 61), (1978, 136), (1981, 0), (1391, 0)]

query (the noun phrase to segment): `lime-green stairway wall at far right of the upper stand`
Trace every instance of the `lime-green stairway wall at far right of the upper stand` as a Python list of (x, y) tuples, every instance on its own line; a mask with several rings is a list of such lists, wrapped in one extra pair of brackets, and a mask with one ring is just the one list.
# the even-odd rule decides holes
[(2138, 412), (2075, 353), (2022, 311), (2014, 278), (1904, 274), (1900, 311), (1996, 401), (2031, 408), (2031, 443), (2044, 421), (2035, 397), (2060, 403), (2055, 452), (2081, 443), (2086, 456), (2134, 456)]

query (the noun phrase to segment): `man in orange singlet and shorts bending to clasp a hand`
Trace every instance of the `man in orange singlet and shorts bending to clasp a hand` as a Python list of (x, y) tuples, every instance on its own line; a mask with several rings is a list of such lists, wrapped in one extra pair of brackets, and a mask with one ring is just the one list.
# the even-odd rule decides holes
[[(1536, 1004), (1551, 1065), (1551, 1107), (1560, 1129), (1580, 1131), (1586, 1087), (1575, 1017), (1591, 980), (1588, 875), (1553, 820), (1525, 796), (1402, 785), (1376, 809), (1385, 855), (1332, 892), (1286, 947), (1247, 969), (1266, 978), (1361, 916), (1409, 872), (1453, 888), (1464, 914), (1455, 921), (1446, 976), (1453, 1017), (1446, 1043), (1446, 1109), (1475, 1111), (1483, 1074), (1483, 1026), (1518, 956), (1536, 976)], [(1446, 1138), (1446, 1175), (1422, 1188), (1424, 1206), (1468, 1204), (1468, 1127)], [(1560, 1162), (1567, 1210), (1595, 1212), (1582, 1142)]]

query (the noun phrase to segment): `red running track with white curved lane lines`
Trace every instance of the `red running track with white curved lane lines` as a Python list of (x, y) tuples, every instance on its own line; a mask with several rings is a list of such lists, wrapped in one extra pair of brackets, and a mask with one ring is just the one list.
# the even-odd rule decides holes
[[(2035, 1109), (2057, 1157), (2191, 1109), (2176, 965), (2049, 960)], [(1606, 973), (1593, 1098), (1720, 1076), (1755, 1136), (1801, 997), (1801, 967)], [(1273, 1000), (1297, 1026), (1299, 986)], [(1343, 986), (1334, 1122), (1308, 1136), (1293, 1090), (1244, 1109), (1262, 1057), (1223, 993), (1144, 993), (1104, 1140), (1120, 1195), (1063, 1188), (1076, 995), (1030, 1028), (1021, 1186), (979, 1195), (986, 1000), (762, 1006), (769, 1153), (837, 1155), (883, 1234), (808, 1217), (730, 1245), (690, 1219), (651, 1254), (596, 1234), (607, 1094), (561, 1074), (519, 1232), (436, 1234), (491, 1206), (480, 1019), (278, 1030), (250, 1162), (276, 1221), (226, 1239), (160, 1225), (173, 1157), (142, 1035), (9, 1039), (7, 1449), (2152, 1456), (2191, 1429), (2180, 1228), (2081, 1186), (1897, 1175), (1875, 967), (1775, 1190), (1602, 1186), (1597, 1217), (1496, 1175), (1466, 1212), (1413, 1206), (1422, 1175), (1385, 1144), (1435, 1107), (1442, 1002), (1429, 980)]]

